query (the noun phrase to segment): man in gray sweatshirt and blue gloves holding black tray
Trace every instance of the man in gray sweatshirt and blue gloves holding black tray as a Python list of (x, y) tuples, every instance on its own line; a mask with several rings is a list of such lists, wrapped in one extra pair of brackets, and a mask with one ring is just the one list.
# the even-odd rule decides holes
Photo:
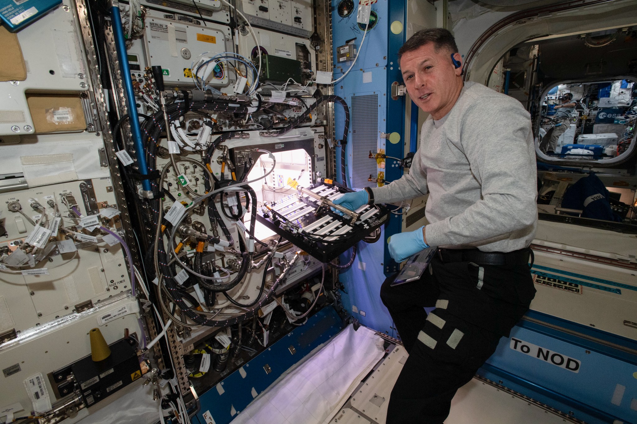
[[(380, 297), (409, 352), (389, 400), (387, 423), (443, 423), (466, 384), (526, 313), (535, 295), (529, 244), (537, 224), (536, 162), (529, 113), (520, 102), (462, 81), (452, 34), (413, 34), (398, 58), (411, 99), (429, 117), (408, 174), (335, 203), (396, 203), (429, 193), (429, 224), (392, 235), (401, 262), (440, 249), (420, 280)], [(427, 315), (424, 308), (435, 309)]]

